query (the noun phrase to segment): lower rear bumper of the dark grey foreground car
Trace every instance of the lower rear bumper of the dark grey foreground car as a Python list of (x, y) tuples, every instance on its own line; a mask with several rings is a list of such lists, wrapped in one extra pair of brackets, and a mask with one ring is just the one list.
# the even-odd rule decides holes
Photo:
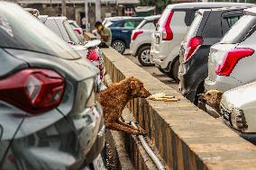
[[(66, 118), (63, 116), (47, 128), (18, 139), (14, 138), (0, 169), (81, 168), (85, 162), (92, 162), (104, 148), (105, 126), (101, 115), (100, 105), (97, 105), (90, 112), (68, 115)], [(97, 121), (93, 121), (94, 118)], [(23, 125), (20, 130), (23, 130)], [(9, 142), (10, 139), (2, 139), (0, 154)]]

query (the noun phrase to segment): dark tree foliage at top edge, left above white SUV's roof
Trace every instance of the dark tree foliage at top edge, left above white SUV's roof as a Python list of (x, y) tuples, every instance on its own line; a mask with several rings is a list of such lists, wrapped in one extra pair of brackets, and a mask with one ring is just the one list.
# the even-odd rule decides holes
[(157, 13), (162, 13), (168, 4), (171, 4), (172, 0), (140, 0), (141, 5), (156, 6)]

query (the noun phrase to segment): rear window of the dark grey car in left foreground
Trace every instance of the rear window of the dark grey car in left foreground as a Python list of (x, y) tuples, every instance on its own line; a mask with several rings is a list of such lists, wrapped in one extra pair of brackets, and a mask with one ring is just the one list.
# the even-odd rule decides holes
[(0, 37), (1, 48), (37, 51), (59, 58), (80, 58), (67, 42), (18, 5), (0, 4)]

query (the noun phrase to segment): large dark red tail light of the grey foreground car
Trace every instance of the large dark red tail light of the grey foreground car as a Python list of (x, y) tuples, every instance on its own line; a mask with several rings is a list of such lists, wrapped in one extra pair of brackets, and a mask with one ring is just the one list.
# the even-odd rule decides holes
[(26, 112), (46, 112), (59, 105), (64, 86), (64, 78), (55, 71), (23, 69), (0, 80), (0, 100)]

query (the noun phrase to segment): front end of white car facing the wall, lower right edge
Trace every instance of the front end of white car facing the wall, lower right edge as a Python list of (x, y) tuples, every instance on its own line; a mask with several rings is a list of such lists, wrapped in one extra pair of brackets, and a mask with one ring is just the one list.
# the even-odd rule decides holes
[(224, 121), (242, 133), (256, 133), (256, 82), (226, 91), (221, 100)]

